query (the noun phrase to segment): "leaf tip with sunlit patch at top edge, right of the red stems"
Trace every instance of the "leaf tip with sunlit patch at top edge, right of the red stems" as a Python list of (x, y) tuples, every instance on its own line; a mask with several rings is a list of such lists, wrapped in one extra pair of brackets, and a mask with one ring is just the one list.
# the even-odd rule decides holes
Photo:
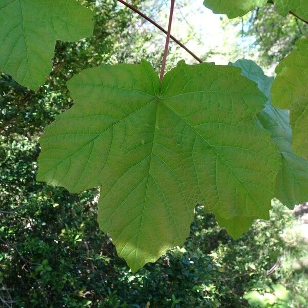
[(255, 7), (263, 7), (267, 0), (204, 0), (203, 4), (217, 14), (235, 18), (247, 14)]

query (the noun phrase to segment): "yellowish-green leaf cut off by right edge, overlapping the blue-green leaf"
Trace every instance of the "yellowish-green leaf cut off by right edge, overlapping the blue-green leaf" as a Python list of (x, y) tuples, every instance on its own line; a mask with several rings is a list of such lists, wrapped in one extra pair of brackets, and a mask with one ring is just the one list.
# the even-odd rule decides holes
[(275, 106), (290, 110), (293, 148), (308, 159), (308, 39), (296, 46), (276, 68), (272, 98)]

